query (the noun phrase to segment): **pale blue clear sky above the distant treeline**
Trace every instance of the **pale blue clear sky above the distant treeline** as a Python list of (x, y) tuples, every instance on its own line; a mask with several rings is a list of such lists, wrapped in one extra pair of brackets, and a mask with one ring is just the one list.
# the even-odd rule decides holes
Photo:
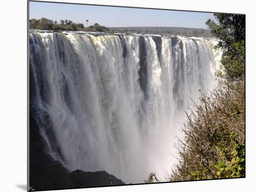
[(101, 26), (174, 26), (204, 28), (213, 13), (196, 13), (154, 9), (139, 9), (110, 6), (88, 6), (61, 3), (30, 2), (29, 18), (45, 17), (60, 22), (61, 19), (83, 23), (86, 26), (99, 23)]

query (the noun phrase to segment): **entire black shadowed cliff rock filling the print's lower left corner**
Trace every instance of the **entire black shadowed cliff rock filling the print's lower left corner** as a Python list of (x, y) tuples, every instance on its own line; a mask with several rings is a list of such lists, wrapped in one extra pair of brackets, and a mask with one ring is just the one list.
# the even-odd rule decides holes
[(77, 187), (125, 185), (121, 179), (106, 171), (69, 172), (59, 161), (46, 152), (47, 146), (40, 134), (40, 122), (36, 121), (33, 106), (30, 106), (29, 129), (29, 186), (34, 190), (70, 189)]

